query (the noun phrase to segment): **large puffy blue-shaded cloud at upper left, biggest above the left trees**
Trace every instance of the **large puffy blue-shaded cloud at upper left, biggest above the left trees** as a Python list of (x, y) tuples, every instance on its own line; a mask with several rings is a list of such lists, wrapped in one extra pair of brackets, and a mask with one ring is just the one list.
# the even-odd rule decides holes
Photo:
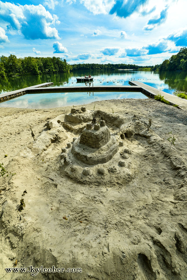
[(6, 22), (8, 30), (17, 30), (26, 39), (60, 39), (57, 29), (51, 27), (60, 23), (58, 17), (41, 4), (22, 6), (0, 1), (0, 20)]

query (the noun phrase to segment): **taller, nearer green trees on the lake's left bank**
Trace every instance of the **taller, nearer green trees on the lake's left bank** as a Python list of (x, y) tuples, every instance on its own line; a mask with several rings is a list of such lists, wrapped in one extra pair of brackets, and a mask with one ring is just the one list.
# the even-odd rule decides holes
[(0, 76), (30, 75), (53, 72), (68, 72), (71, 66), (60, 57), (0, 56)]

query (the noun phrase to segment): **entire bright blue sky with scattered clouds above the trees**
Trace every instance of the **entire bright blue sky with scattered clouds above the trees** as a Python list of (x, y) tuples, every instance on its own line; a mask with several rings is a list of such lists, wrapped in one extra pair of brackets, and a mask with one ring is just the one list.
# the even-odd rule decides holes
[(0, 56), (160, 64), (187, 46), (186, 0), (0, 0)]

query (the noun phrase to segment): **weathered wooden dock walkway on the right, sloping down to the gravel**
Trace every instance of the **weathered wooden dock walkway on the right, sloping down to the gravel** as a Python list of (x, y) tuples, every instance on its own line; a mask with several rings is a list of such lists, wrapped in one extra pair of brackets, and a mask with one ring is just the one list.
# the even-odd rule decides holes
[(169, 94), (167, 92), (164, 92), (162, 90), (158, 90), (155, 87), (151, 87), (150, 85), (146, 85), (144, 83), (138, 82), (138, 81), (129, 81), (129, 84), (132, 86), (139, 86), (141, 88), (140, 92), (142, 92), (144, 95), (154, 98), (155, 95), (160, 94), (161, 96), (164, 96), (164, 99), (169, 101), (171, 105), (177, 104), (181, 109), (186, 108), (187, 109), (187, 100), (182, 99), (178, 96)]

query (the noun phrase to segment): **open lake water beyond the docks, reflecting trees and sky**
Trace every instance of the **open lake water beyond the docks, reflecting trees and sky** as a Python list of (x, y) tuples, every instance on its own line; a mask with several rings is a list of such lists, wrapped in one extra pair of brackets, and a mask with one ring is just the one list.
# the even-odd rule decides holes
[[(162, 90), (186, 90), (187, 72), (149, 72), (149, 71), (90, 71), (93, 83), (81, 83), (83, 86), (92, 85), (128, 85), (129, 80), (139, 80), (142, 83), (161, 88)], [(54, 86), (77, 86), (76, 77), (82, 77), (85, 71), (74, 71), (70, 73), (46, 73), (42, 75), (26, 75), (17, 77), (6, 77), (0, 80), (0, 93), (30, 87), (51, 80)], [(172, 93), (169, 92), (169, 93)]]

